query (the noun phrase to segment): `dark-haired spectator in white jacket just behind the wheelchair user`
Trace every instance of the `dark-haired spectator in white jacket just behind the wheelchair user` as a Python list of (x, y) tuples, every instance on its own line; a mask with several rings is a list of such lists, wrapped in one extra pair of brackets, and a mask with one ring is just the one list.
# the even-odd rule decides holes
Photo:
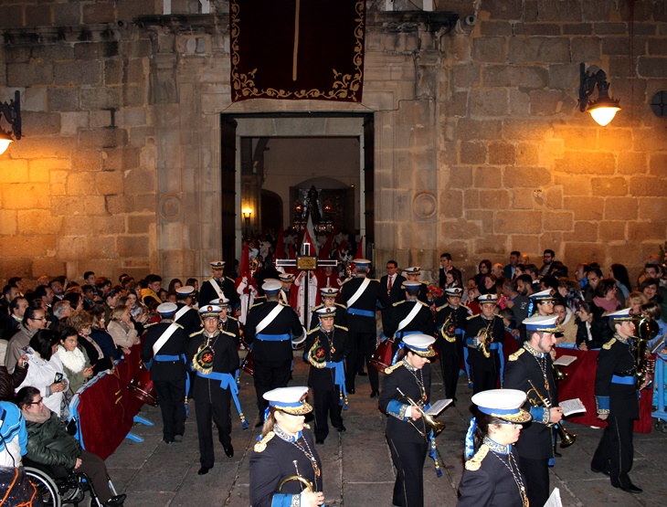
[(58, 417), (66, 418), (69, 410), (65, 407), (65, 391), (69, 382), (62, 363), (56, 356), (58, 333), (50, 329), (40, 329), (30, 339), (27, 375), (20, 386), (34, 386), (44, 398), (44, 405)]

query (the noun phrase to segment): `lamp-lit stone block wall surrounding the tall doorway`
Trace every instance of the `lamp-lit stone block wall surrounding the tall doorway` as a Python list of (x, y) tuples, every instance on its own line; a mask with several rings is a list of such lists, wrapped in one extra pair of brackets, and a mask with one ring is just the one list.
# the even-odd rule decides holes
[[(0, 5), (0, 94), (21, 90), (26, 135), (0, 156), (0, 278), (206, 275), (221, 111), (375, 111), (378, 262), (428, 272), (449, 250), (470, 274), (553, 248), (638, 269), (667, 236), (665, 121), (648, 109), (667, 90), (665, 3), (635, 2), (629, 37), (621, 1), (442, 0), (477, 16), (447, 34), (439, 13), (369, 2), (361, 105), (231, 104), (228, 5), (212, 5)], [(621, 100), (608, 127), (578, 112), (580, 62)]]

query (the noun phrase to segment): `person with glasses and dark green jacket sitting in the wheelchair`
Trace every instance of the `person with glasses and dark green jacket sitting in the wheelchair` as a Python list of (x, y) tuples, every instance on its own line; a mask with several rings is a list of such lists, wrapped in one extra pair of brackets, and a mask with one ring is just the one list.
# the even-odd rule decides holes
[(32, 386), (21, 388), (16, 395), (16, 404), (26, 418), (26, 458), (43, 465), (65, 467), (74, 473), (85, 473), (104, 507), (122, 505), (126, 495), (111, 496), (104, 460), (80, 448), (79, 442), (69, 435), (58, 415), (44, 406), (39, 389)]

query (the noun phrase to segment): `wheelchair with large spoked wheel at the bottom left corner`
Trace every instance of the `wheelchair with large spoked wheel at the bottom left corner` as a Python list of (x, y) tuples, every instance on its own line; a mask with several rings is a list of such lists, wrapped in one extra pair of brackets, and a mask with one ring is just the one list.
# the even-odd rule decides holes
[[(102, 504), (98, 500), (90, 478), (85, 473), (68, 470), (65, 467), (43, 465), (26, 457), (23, 459), (23, 465), (28, 480), (37, 490), (36, 506), (61, 507), (72, 504), (74, 507), (79, 507), (83, 504), (88, 491), (90, 496), (88, 505), (101, 507)], [(111, 479), (109, 485), (112, 494), (116, 495)]]

